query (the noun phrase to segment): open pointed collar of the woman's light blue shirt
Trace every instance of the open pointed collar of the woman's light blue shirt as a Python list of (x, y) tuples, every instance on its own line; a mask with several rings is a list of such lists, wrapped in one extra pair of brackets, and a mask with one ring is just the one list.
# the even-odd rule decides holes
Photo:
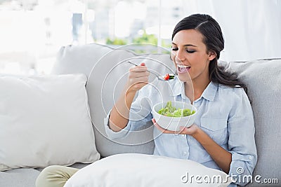
[[(173, 96), (181, 95), (182, 98), (185, 98), (185, 91), (184, 91), (184, 84), (182, 81), (178, 80), (178, 78), (175, 78), (173, 81), (172, 89), (173, 89)], [(201, 97), (204, 97), (204, 99), (209, 100), (210, 102), (214, 102), (214, 99), (216, 97), (216, 92), (218, 90), (218, 84), (210, 82), (209, 85), (207, 85), (207, 88), (202, 93)], [(200, 98), (201, 98), (200, 97)], [(199, 99), (200, 99), (199, 98)]]

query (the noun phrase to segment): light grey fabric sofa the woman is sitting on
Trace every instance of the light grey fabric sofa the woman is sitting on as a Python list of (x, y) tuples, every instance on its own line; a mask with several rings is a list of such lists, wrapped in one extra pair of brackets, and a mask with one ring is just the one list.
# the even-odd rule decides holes
[[(119, 48), (91, 43), (82, 46), (63, 46), (58, 51), (51, 71), (52, 76), (67, 74), (86, 76), (88, 112), (93, 127), (94, 151), (96, 151), (96, 157), (89, 159), (90, 161), (84, 162), (82, 159), (77, 163), (70, 162), (63, 165), (82, 168), (110, 155), (122, 153), (151, 155), (153, 153), (152, 123), (147, 123), (143, 129), (115, 141), (108, 139), (105, 133), (103, 120), (119, 92), (122, 91), (122, 85), (126, 81), (126, 72), (131, 67), (126, 60), (145, 62), (152, 71), (158, 71), (159, 74), (174, 71), (169, 51), (145, 43)], [(281, 134), (281, 58), (247, 62), (220, 61), (219, 63), (228, 71), (237, 74), (238, 78), (247, 85), (247, 94), (254, 111), (258, 162), (254, 169), (253, 181), (247, 186), (278, 186), (277, 182), (281, 182), (281, 144), (278, 143)], [(4, 140), (1, 139), (1, 141)], [(81, 147), (85, 149), (86, 145), (83, 144)], [(84, 152), (79, 154), (84, 154)], [(20, 153), (18, 158), (20, 158)], [(46, 166), (54, 163), (48, 160)], [(42, 169), (36, 165), (4, 169), (0, 172), (0, 186), (35, 186), (35, 180)]]

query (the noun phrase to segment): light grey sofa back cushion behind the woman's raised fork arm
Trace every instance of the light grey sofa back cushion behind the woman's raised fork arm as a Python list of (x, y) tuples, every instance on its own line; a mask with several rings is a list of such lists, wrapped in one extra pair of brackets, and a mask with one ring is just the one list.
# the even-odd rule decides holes
[[(151, 53), (143, 53), (145, 47), (150, 48)], [(174, 72), (174, 64), (168, 52), (148, 44), (113, 49), (92, 43), (84, 46), (65, 46), (60, 49), (51, 73), (83, 73), (88, 76), (86, 89), (89, 108), (96, 148), (102, 157), (117, 153), (153, 153), (152, 123), (145, 124), (143, 129), (131, 133), (124, 139), (112, 141), (105, 134), (104, 118), (124, 88), (129, 67), (132, 66), (126, 60), (136, 64), (145, 62), (150, 71), (162, 75), (171, 74)], [(154, 78), (155, 76), (150, 75), (150, 80)]]

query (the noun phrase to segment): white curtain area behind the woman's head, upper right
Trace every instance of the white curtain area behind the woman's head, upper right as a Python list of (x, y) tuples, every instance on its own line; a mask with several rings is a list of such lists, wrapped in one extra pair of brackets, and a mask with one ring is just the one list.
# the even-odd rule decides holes
[(226, 41), (221, 60), (281, 57), (281, 0), (183, 0), (186, 15), (207, 13)]

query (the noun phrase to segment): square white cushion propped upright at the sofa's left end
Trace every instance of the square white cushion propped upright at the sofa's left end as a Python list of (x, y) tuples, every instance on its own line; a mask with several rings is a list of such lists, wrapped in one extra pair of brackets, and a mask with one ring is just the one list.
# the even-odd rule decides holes
[(86, 76), (0, 76), (0, 171), (100, 158)]

